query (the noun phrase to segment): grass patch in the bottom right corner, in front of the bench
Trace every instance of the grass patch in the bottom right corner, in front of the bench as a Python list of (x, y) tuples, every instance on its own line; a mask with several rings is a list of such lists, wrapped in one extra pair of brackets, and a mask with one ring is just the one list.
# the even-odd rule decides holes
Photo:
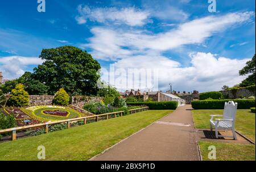
[[(255, 161), (255, 145), (253, 144), (229, 144), (210, 141), (199, 141), (203, 161), (210, 161), (208, 158), (208, 147), (216, 147), (215, 161)], [(212, 161), (214, 161), (212, 159)]]

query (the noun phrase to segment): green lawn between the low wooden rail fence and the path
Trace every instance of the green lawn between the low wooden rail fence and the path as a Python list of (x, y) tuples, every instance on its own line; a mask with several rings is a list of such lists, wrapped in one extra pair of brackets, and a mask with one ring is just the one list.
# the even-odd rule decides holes
[(39, 145), (46, 148), (46, 160), (88, 160), (171, 112), (172, 110), (142, 111), (63, 131), (1, 143), (0, 160), (38, 160)]

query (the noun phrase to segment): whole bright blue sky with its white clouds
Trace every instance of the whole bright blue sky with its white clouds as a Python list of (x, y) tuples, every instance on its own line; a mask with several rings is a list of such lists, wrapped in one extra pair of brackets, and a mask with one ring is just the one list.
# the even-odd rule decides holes
[(36, 0), (1, 1), (0, 71), (18, 78), (42, 63), (42, 49), (73, 45), (104, 68), (160, 68), (163, 91), (233, 86), (255, 54), (255, 1), (216, 2), (209, 12), (207, 0), (46, 0), (38, 12)]

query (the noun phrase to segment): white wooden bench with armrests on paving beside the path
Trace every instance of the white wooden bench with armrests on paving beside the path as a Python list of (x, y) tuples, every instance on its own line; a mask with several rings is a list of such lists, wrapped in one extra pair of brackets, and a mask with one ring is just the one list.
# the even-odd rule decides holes
[[(236, 131), (235, 131), (235, 122), (237, 114), (237, 103), (233, 101), (225, 102), (224, 113), (223, 115), (210, 115), (210, 131), (215, 128), (215, 136), (218, 139), (221, 137), (233, 137), (234, 140), (237, 140)], [(214, 117), (222, 117), (222, 119), (213, 119)], [(218, 135), (218, 129), (220, 130), (232, 130), (233, 136), (222, 136)]]

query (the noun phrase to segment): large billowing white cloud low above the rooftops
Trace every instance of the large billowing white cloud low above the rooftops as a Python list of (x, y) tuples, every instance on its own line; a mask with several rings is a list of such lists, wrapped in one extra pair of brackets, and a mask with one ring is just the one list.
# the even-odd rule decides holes
[[(155, 90), (166, 91), (171, 82), (176, 91), (200, 92), (220, 90), (223, 85), (233, 86), (246, 78), (239, 76), (238, 71), (245, 66), (249, 59), (230, 59), (217, 57), (211, 53), (191, 54), (191, 66), (181, 67), (179, 62), (169, 58), (150, 55), (141, 55), (122, 59), (115, 63), (115, 68), (127, 71), (128, 68), (148, 69), (158, 68), (159, 88)], [(139, 81), (135, 81), (139, 83)], [(126, 85), (115, 85), (120, 90), (131, 89)], [(135, 88), (137, 89), (137, 88)], [(148, 89), (148, 88), (141, 88)]]

